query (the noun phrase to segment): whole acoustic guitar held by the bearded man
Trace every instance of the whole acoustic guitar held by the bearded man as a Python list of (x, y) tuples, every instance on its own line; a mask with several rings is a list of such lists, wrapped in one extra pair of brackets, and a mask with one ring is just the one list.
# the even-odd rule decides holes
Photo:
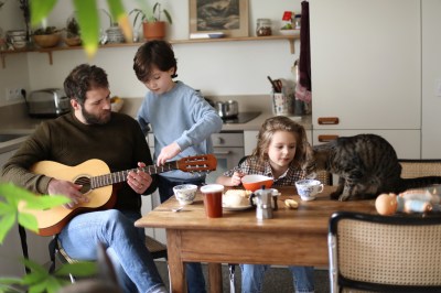
[(33, 173), (83, 185), (82, 193), (87, 195), (89, 202), (78, 204), (72, 209), (57, 206), (37, 210), (26, 209), (21, 205), (20, 211), (25, 211), (36, 217), (39, 235), (51, 236), (58, 234), (68, 220), (77, 214), (111, 208), (116, 203), (112, 184), (127, 181), (127, 175), (131, 171), (142, 170), (151, 175), (172, 170), (200, 173), (214, 171), (216, 166), (217, 160), (213, 154), (187, 156), (178, 161), (166, 162), (162, 166), (150, 165), (114, 173), (110, 173), (105, 162), (97, 159), (88, 160), (76, 166), (67, 166), (53, 161), (41, 161), (31, 167)]

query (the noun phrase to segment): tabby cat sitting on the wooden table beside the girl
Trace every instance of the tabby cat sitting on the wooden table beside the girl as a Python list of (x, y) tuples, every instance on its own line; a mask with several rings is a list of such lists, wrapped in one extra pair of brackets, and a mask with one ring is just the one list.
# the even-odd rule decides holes
[[(401, 178), (401, 165), (392, 145), (375, 134), (344, 137), (310, 149), (306, 174), (326, 170), (340, 176), (332, 199), (369, 199), (381, 193), (441, 184), (441, 176)], [(441, 174), (440, 174), (441, 175)]]

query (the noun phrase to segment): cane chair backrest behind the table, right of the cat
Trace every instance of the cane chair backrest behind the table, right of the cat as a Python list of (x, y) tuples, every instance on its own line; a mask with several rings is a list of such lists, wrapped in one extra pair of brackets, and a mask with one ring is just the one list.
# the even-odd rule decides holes
[(441, 160), (399, 160), (401, 177), (441, 176)]

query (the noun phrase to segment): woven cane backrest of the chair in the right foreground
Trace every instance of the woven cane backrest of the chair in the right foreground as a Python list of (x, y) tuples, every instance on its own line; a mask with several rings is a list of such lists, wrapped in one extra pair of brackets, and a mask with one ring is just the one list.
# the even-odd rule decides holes
[(329, 228), (331, 292), (441, 292), (441, 216), (340, 211)]

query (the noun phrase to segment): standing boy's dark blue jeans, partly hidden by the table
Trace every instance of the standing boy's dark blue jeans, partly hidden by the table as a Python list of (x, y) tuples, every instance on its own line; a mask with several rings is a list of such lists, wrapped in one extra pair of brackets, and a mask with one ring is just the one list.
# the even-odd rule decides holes
[[(158, 176), (158, 191), (161, 203), (169, 199), (173, 193), (173, 187), (180, 184), (205, 184), (205, 178), (195, 178), (194, 181), (171, 181), (162, 176)], [(200, 262), (187, 262), (185, 265), (185, 275), (189, 293), (205, 293), (205, 279), (202, 273), (202, 265)]]

